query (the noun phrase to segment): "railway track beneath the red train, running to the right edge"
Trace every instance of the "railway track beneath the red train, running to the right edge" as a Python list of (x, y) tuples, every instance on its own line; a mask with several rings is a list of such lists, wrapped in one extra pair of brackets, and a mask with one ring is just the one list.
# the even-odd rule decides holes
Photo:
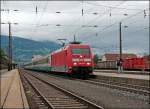
[[(59, 75), (52, 75), (54, 77), (59, 77)], [(63, 76), (61, 76), (63, 77)], [(139, 85), (133, 85), (133, 84), (126, 84), (126, 83), (119, 83), (119, 82), (114, 82), (114, 81), (106, 81), (106, 80), (98, 80), (98, 79), (90, 79), (90, 80), (81, 80), (81, 79), (76, 79), (76, 78), (67, 78), (66, 79), (72, 79), (72, 80), (77, 80), (81, 82), (86, 82), (90, 84), (95, 84), (95, 85), (100, 85), (100, 86), (105, 86), (113, 89), (119, 89), (122, 91), (128, 91), (131, 93), (136, 93), (136, 94), (142, 94), (149, 96), (150, 95), (150, 87), (146, 86), (139, 86)]]

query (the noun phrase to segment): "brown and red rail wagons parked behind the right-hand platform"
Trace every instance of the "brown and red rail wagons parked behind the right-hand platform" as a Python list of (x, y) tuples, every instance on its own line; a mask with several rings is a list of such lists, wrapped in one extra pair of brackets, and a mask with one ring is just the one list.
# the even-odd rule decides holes
[[(150, 57), (136, 57), (123, 59), (122, 67), (124, 70), (146, 70), (150, 71)], [(98, 69), (117, 69), (117, 61), (99, 61), (96, 68)]]

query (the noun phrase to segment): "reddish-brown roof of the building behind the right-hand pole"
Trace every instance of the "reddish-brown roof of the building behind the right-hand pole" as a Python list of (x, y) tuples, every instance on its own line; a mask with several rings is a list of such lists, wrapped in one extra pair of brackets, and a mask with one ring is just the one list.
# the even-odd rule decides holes
[[(122, 54), (122, 59), (137, 58), (135, 54)], [(116, 61), (119, 59), (119, 54), (106, 53), (102, 56), (102, 61)]]

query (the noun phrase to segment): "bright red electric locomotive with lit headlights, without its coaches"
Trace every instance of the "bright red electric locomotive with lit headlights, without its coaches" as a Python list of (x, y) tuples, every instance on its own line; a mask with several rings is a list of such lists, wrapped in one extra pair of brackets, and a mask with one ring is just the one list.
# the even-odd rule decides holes
[(51, 54), (51, 71), (89, 75), (93, 72), (93, 55), (89, 45), (69, 44)]

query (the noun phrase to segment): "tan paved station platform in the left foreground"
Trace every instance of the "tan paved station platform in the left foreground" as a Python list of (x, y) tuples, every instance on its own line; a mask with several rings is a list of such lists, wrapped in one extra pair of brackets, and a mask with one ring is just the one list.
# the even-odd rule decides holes
[(1, 73), (0, 108), (29, 108), (18, 69)]

